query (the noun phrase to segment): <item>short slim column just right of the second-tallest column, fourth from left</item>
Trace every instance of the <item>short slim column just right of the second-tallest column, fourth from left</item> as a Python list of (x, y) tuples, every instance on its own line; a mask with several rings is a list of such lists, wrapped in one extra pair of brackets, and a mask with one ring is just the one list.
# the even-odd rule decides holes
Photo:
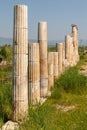
[(48, 52), (48, 90), (54, 85), (54, 52)]

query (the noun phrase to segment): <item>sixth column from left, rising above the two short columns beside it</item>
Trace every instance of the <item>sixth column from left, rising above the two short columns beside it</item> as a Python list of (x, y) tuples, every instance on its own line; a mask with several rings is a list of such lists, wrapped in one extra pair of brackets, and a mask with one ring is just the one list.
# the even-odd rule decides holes
[(63, 43), (57, 43), (56, 49), (58, 52), (58, 73), (60, 75), (63, 72)]

